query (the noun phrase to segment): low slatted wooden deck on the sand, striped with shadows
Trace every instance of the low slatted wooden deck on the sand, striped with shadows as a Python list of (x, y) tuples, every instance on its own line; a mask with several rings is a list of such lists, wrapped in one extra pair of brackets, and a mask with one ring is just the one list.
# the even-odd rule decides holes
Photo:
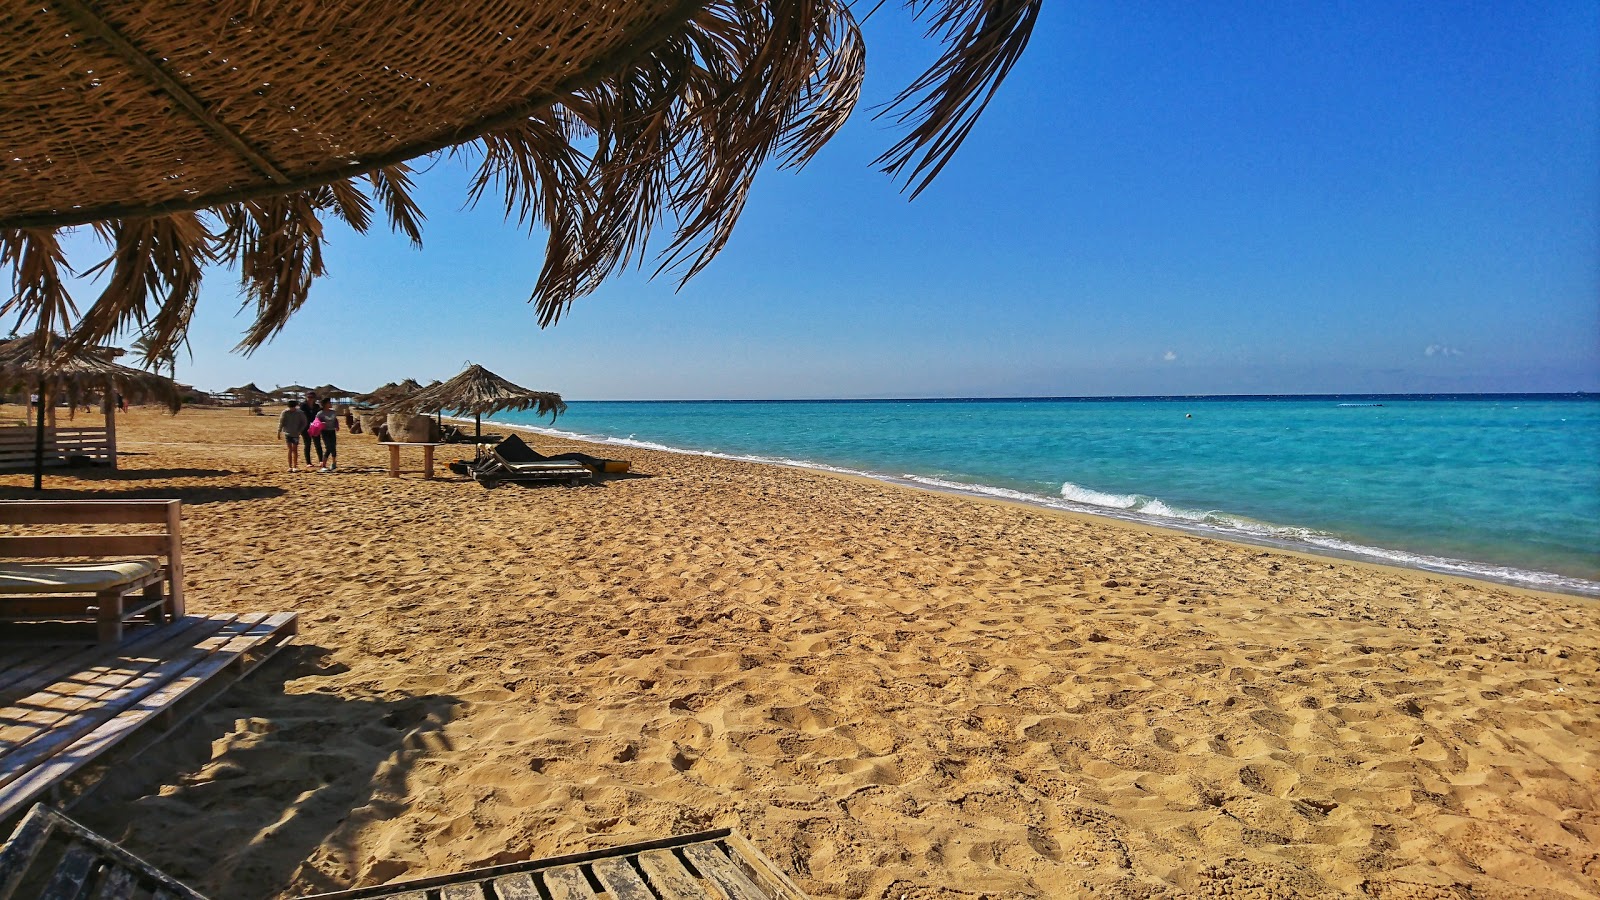
[(294, 613), (186, 615), (115, 647), (0, 644), (0, 823), (70, 804), (294, 633)]

